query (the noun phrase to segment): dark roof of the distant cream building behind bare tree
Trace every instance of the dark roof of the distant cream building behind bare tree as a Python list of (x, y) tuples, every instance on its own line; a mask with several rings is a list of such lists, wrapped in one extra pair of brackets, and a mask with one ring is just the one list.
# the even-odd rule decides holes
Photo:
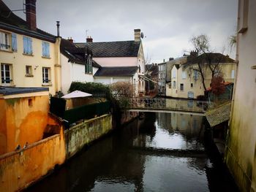
[(235, 62), (228, 55), (223, 55), (222, 53), (203, 53), (197, 57), (189, 55), (186, 64), (199, 64), (199, 63), (233, 63)]

